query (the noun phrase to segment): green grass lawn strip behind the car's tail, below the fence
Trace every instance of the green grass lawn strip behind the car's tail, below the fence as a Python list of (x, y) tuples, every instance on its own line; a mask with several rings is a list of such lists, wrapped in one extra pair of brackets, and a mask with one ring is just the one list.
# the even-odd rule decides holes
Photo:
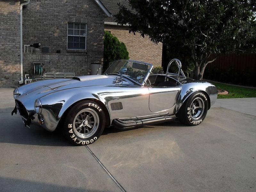
[(218, 99), (256, 97), (256, 89), (238, 87), (234, 85), (226, 85), (226, 84), (215, 83), (215, 82), (211, 82), (211, 83), (217, 86), (218, 89), (224, 89), (228, 91), (227, 95), (218, 94)]

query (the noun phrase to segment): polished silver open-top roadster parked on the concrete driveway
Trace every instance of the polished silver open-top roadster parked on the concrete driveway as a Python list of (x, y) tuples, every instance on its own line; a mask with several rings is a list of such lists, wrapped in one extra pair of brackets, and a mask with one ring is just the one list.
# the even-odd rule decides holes
[[(177, 73), (171, 73), (171, 65)], [(217, 88), (187, 78), (177, 59), (167, 72), (152, 73), (153, 65), (117, 60), (104, 75), (52, 79), (23, 85), (13, 91), (15, 108), (25, 126), (57, 127), (75, 145), (98, 140), (111, 125), (126, 130), (177, 121), (198, 125), (217, 98)]]

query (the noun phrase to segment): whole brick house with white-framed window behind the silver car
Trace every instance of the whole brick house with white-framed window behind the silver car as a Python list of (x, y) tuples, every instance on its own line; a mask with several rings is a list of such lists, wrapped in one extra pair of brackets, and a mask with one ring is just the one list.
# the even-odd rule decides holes
[[(46, 72), (89, 75), (90, 63), (103, 63), (104, 30), (123, 41), (130, 58), (161, 66), (162, 44), (139, 34), (129, 34), (112, 17), (118, 11), (114, 0), (0, 0), (0, 87), (18, 86), (33, 63), (44, 63)], [(122, 0), (121, 3), (127, 3)], [(20, 57), (20, 10), (22, 10), (22, 56)], [(31, 52), (41, 43), (49, 52)]]

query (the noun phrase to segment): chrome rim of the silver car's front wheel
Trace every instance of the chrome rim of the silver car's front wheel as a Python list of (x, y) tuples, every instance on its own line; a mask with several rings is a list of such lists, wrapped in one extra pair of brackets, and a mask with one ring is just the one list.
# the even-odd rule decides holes
[(74, 119), (74, 132), (81, 138), (91, 137), (99, 127), (99, 116), (91, 108), (79, 111)]

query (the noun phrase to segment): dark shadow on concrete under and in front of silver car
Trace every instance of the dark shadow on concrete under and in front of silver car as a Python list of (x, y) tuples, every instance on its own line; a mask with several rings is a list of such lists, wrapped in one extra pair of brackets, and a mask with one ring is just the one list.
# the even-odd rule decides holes
[[(4, 109), (4, 111), (9, 108)], [(11, 116), (10, 112), (2, 112), (0, 115), (0, 143), (14, 143), (23, 145), (38, 145), (38, 146), (74, 146), (62, 135), (60, 129), (54, 132), (48, 132), (41, 127), (31, 126), (25, 127), (21, 121), (20, 115)], [(150, 126), (136, 127), (129, 130), (136, 130), (140, 128), (155, 128), (155, 127), (180, 127), (184, 126), (181, 123), (166, 122)], [(105, 128), (102, 135), (109, 133), (119, 133), (128, 130), (119, 130), (114, 126)]]

